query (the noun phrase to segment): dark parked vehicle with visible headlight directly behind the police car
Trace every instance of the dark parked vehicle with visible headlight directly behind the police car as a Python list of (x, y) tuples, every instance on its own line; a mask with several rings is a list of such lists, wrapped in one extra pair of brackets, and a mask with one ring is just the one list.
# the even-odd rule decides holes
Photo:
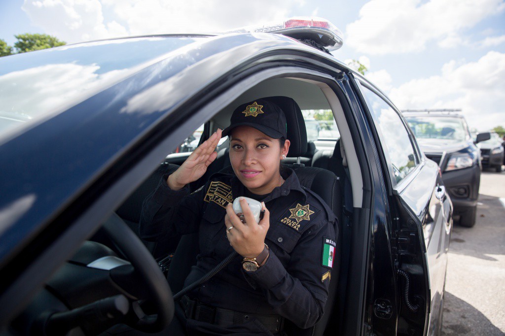
[(489, 139), (489, 133), (478, 134), (474, 143), (461, 115), (430, 112), (403, 112), (403, 115), (426, 157), (440, 166), (460, 225), (473, 227), (481, 171), (479, 149), (475, 144)]

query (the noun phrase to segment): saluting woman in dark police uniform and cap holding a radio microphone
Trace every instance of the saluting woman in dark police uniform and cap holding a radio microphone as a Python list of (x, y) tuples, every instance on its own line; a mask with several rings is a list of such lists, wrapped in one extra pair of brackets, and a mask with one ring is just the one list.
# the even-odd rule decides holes
[[(235, 250), (236, 257), (208, 283), (181, 300), (189, 334), (283, 334), (284, 319), (300, 328), (323, 315), (333, 267), (336, 218), (324, 201), (282, 167), (290, 142), (280, 107), (265, 99), (239, 106), (231, 125), (202, 143), (143, 204), (140, 235), (148, 241), (198, 232), (197, 263), (185, 286)], [(233, 174), (215, 174), (189, 194), (207, 171), (221, 136), (230, 137)], [(240, 200), (262, 202), (256, 222)], [(179, 308), (180, 309), (180, 308)]]

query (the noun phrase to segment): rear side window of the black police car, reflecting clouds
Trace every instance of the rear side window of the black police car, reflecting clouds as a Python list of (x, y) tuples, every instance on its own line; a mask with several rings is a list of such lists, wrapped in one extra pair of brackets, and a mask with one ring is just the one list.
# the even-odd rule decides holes
[(382, 149), (389, 156), (389, 169), (396, 182), (405, 178), (419, 163), (409, 133), (396, 111), (381, 97), (362, 86), (365, 99), (378, 129)]

